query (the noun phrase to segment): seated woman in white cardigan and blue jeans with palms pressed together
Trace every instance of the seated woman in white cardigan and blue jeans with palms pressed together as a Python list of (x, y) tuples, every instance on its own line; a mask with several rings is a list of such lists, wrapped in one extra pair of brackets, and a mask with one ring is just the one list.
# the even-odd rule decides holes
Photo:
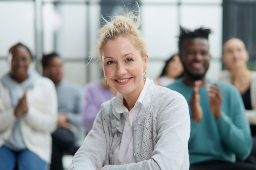
[(0, 79), (0, 169), (47, 170), (58, 113), (54, 84), (28, 71), (25, 45), (12, 46), (7, 60), (11, 70)]

